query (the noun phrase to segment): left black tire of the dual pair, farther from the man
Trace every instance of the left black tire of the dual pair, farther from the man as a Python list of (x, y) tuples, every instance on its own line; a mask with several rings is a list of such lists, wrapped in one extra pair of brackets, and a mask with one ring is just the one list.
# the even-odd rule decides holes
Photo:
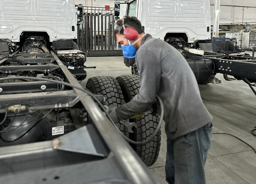
[[(94, 94), (103, 95), (105, 106), (118, 107), (125, 103), (122, 90), (114, 77), (99, 76), (89, 78), (86, 88)], [(125, 136), (128, 136), (128, 129), (124, 124), (116, 123), (116, 126)]]

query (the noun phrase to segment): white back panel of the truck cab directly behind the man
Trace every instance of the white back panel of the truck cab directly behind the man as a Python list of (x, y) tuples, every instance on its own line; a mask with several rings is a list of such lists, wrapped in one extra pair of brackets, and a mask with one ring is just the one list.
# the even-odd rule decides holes
[[(133, 0), (130, 2), (135, 4)], [(188, 43), (208, 40), (210, 16), (210, 0), (137, 0), (136, 17), (145, 27), (145, 33), (161, 40), (166, 33), (186, 33)]]

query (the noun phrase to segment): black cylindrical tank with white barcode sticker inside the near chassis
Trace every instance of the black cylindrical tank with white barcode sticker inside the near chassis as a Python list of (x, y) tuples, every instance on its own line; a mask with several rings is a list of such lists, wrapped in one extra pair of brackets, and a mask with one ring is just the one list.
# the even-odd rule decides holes
[(76, 129), (69, 112), (50, 114), (51, 111), (47, 114), (53, 114), (52, 118), (55, 116), (56, 121), (49, 120), (44, 111), (7, 118), (5, 124), (11, 123), (11, 126), (0, 134), (0, 147), (52, 140)]

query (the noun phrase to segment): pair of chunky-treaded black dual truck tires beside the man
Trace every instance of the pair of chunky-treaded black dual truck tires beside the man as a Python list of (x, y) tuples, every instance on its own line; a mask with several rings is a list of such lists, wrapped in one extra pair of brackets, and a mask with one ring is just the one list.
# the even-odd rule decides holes
[[(109, 107), (118, 107), (128, 103), (140, 90), (139, 76), (124, 75), (120, 77), (92, 77), (88, 79), (86, 88), (94, 94), (101, 94), (105, 98), (105, 105)], [(159, 122), (158, 115), (153, 115), (151, 111), (144, 113), (141, 117), (130, 119), (130, 122), (137, 123), (137, 129), (134, 133), (128, 132), (127, 127), (121, 123), (116, 126), (121, 132), (133, 141), (145, 141), (156, 130)], [(159, 155), (161, 145), (161, 130), (152, 141), (145, 145), (131, 144), (142, 161), (149, 167), (152, 166)]]

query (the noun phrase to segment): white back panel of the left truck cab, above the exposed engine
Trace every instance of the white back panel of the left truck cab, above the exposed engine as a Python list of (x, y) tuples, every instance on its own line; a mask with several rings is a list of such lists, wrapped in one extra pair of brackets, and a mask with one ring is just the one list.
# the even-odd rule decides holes
[(24, 31), (47, 32), (50, 41), (76, 39), (74, 0), (0, 0), (0, 39), (19, 42)]

